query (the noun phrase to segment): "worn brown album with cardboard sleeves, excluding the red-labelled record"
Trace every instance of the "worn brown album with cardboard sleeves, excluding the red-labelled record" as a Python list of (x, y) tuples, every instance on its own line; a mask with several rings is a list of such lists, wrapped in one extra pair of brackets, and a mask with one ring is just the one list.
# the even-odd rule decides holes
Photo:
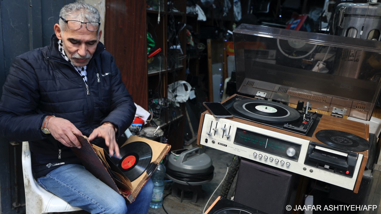
[(142, 187), (152, 176), (154, 169), (156, 169), (160, 161), (163, 160), (166, 153), (168, 153), (171, 148), (168, 144), (151, 141), (138, 136), (130, 136), (120, 148), (123, 148), (123, 146), (132, 142), (140, 141), (148, 144), (152, 150), (152, 158), (149, 164), (151, 169), (144, 170), (138, 178), (130, 181), (111, 160), (104, 149), (91, 144), (86, 136), (79, 134), (75, 134), (75, 136), (77, 136), (82, 147), (81, 149), (72, 147), (72, 150), (81, 160), (83, 166), (85, 166), (85, 168), (99, 180), (120, 193), (129, 203), (132, 203), (135, 200)]

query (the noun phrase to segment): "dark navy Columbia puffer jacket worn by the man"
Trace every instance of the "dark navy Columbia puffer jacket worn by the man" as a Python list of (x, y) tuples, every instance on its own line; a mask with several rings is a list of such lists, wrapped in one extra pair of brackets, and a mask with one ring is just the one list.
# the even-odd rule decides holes
[[(58, 52), (57, 43), (53, 35), (50, 46), (16, 57), (0, 101), (0, 136), (29, 141), (36, 178), (62, 164), (79, 163), (70, 148), (42, 133), (45, 116), (65, 118), (89, 136), (106, 121), (126, 130), (136, 111), (114, 57), (102, 43), (87, 66), (89, 94), (78, 72)], [(92, 143), (105, 147), (103, 139)]]

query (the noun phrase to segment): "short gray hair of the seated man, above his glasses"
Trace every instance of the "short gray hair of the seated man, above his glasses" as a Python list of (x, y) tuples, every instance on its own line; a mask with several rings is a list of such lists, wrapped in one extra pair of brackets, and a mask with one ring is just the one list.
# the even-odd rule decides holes
[[(66, 20), (76, 20), (80, 22), (99, 22), (101, 20), (101, 16), (94, 6), (80, 2), (63, 6), (61, 11), (59, 11), (59, 16)], [(67, 24), (61, 18), (58, 23), (62, 31), (67, 30)], [(97, 31), (98, 34), (100, 29), (99, 27)]]

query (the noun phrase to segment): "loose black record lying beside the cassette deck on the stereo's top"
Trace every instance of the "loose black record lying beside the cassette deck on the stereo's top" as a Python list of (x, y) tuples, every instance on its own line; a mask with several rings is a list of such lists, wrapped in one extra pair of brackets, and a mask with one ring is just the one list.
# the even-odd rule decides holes
[(369, 149), (369, 142), (362, 137), (337, 130), (320, 130), (316, 138), (324, 144), (352, 152), (362, 152)]

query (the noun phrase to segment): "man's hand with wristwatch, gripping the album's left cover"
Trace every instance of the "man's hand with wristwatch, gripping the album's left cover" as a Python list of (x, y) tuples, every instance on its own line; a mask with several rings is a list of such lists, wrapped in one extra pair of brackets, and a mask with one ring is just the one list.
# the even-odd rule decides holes
[(60, 117), (51, 117), (46, 128), (50, 131), (54, 139), (67, 147), (81, 148), (81, 143), (73, 132), (80, 135), (82, 135), (82, 133), (69, 120)]

